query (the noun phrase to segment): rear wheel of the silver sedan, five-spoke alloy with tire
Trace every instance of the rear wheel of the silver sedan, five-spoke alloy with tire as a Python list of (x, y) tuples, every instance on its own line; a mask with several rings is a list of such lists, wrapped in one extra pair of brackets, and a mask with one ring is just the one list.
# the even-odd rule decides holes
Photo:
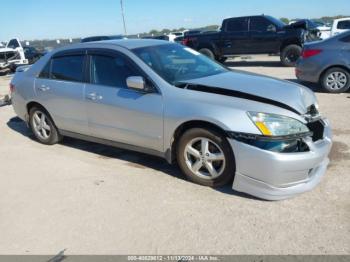
[(62, 139), (49, 113), (41, 107), (30, 109), (29, 126), (35, 138), (42, 144), (53, 145)]

